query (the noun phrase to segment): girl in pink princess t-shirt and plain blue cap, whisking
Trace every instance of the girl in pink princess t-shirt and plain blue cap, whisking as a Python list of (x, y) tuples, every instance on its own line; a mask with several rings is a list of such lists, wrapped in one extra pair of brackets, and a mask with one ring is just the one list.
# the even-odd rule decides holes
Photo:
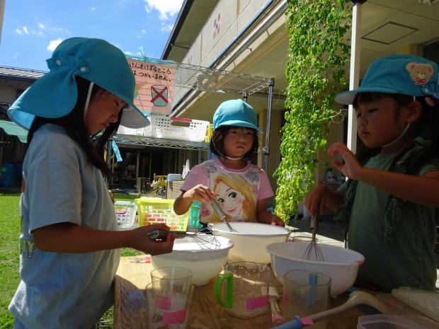
[(192, 202), (202, 202), (200, 222), (221, 221), (212, 208), (212, 198), (229, 221), (258, 221), (284, 226), (282, 219), (267, 210), (273, 190), (266, 173), (251, 164), (258, 151), (258, 118), (243, 100), (221, 103), (213, 116), (210, 151), (217, 156), (194, 166), (174, 203), (176, 214), (188, 211)]

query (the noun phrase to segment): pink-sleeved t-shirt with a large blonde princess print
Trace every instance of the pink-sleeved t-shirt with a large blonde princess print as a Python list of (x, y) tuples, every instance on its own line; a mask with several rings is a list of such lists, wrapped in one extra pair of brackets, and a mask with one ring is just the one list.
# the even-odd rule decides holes
[[(256, 221), (258, 200), (274, 195), (266, 172), (251, 163), (235, 170), (224, 167), (218, 159), (205, 161), (190, 170), (181, 192), (198, 184), (215, 192), (215, 199), (229, 221)], [(221, 220), (210, 204), (201, 204), (200, 221), (207, 224)]]

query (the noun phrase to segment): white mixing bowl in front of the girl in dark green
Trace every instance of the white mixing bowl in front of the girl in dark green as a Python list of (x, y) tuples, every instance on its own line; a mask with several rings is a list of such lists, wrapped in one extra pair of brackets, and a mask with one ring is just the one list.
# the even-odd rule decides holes
[(331, 296), (337, 296), (348, 290), (358, 273), (358, 266), (365, 258), (356, 251), (319, 244), (324, 262), (304, 260), (304, 253), (309, 242), (272, 243), (267, 246), (271, 256), (271, 268), (280, 282), (283, 275), (290, 270), (309, 270), (331, 277)]

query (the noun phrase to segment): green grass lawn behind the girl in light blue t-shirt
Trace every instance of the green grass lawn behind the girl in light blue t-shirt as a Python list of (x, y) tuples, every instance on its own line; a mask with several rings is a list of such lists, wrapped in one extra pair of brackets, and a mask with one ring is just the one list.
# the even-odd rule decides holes
[[(137, 196), (115, 194), (115, 200), (133, 200)], [(20, 234), (20, 194), (0, 190), (0, 329), (13, 328), (13, 316), (8, 305), (15, 293), (20, 276), (18, 273)], [(122, 255), (140, 255), (137, 250), (122, 249)], [(110, 309), (101, 320), (101, 328), (113, 328), (113, 310)]]

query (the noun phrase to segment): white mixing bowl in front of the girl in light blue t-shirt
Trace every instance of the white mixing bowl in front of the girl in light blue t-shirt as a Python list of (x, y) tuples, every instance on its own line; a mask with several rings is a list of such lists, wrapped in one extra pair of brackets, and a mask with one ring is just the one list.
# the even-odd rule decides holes
[(184, 267), (193, 272), (192, 283), (203, 285), (210, 279), (217, 277), (222, 267), (227, 262), (229, 250), (233, 247), (233, 241), (222, 236), (199, 236), (199, 238), (215, 238), (218, 245), (210, 246), (198, 243), (193, 237), (178, 238), (173, 243), (172, 253), (152, 256), (151, 262), (154, 268), (158, 267)]

